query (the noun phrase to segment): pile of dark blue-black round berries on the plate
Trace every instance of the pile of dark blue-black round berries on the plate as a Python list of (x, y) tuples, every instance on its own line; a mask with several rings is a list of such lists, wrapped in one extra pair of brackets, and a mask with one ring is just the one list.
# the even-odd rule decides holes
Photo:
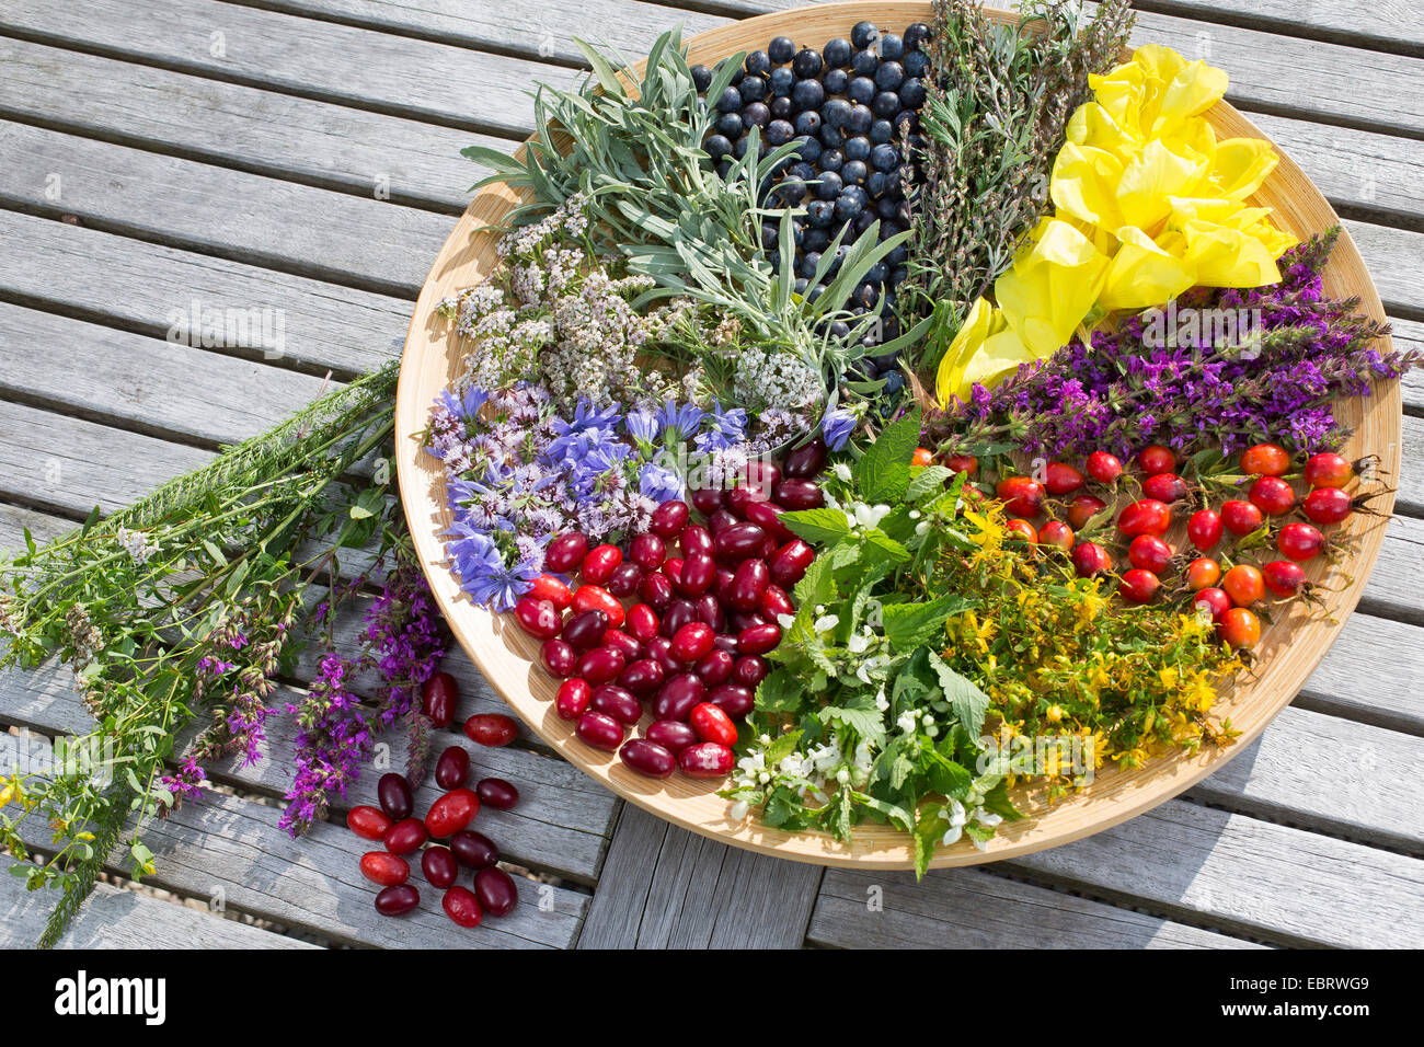
[[(815, 298), (823, 291), (823, 285), (810, 286), (810, 279), (822, 252), (842, 229), (844, 236), (827, 281), (836, 275), (846, 246), (877, 219), (881, 239), (910, 228), (904, 184), (913, 181), (914, 164), (906, 145), (913, 151), (921, 144), (918, 111), (930, 68), (923, 44), (928, 36), (924, 23), (897, 36), (862, 21), (850, 40), (829, 40), (819, 51), (776, 37), (766, 50), (748, 54), (732, 84), (721, 97), (708, 100), (716, 120), (703, 147), (723, 174), (732, 158), (746, 155), (753, 127), (760, 128), (760, 140), (769, 147), (797, 144), (795, 157), (763, 185), (769, 207), (806, 208), (795, 231), (797, 293)], [(693, 66), (692, 75), (705, 93), (713, 73)], [(776, 225), (763, 226), (762, 241), (779, 266)], [(906, 258), (904, 245), (891, 251), (856, 288), (853, 303), (873, 309), (881, 292), (887, 303), (893, 302), (896, 286), (906, 278)], [(886, 313), (881, 342), (899, 333), (894, 318)], [(891, 358), (867, 358), (867, 370), (896, 386), (887, 392), (899, 392), (903, 385)]]

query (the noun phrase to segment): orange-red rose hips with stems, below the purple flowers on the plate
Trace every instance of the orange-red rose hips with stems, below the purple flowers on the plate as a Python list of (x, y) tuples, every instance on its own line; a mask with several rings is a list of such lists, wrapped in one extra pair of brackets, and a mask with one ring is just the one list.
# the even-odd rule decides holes
[[(964, 459), (954, 469), (968, 469), (978, 463)], [(1306, 460), (1299, 477), (1309, 493), (1300, 497), (1289, 476), (1293, 460), (1289, 452), (1273, 443), (1262, 443), (1242, 453), (1239, 467), (1246, 487), (1245, 499), (1230, 499), (1220, 509), (1202, 507), (1200, 490), (1193, 489), (1175, 472), (1176, 456), (1169, 447), (1143, 447), (1135, 457), (1141, 473), (1141, 494), (1116, 513), (1116, 531), (1126, 546), (1131, 564), (1119, 578), (1118, 594), (1129, 604), (1148, 604), (1156, 598), (1162, 577), (1176, 563), (1176, 551), (1166, 541), (1173, 519), (1189, 511), (1186, 538), (1200, 553), (1186, 563), (1183, 580), (1193, 607), (1212, 617), (1218, 634), (1233, 647), (1250, 648), (1260, 640), (1262, 625), (1255, 604), (1267, 591), (1276, 597), (1294, 597), (1307, 590), (1300, 564), (1316, 558), (1326, 547), (1320, 527), (1344, 521), (1361, 501), (1343, 489), (1356, 474), (1354, 466), (1334, 453), (1320, 453)], [(1012, 517), (1007, 530), (1040, 546), (1055, 546), (1068, 553), (1081, 577), (1112, 570), (1112, 556), (1096, 541), (1079, 541), (1077, 533), (1091, 527), (1091, 521), (1105, 514), (1108, 503), (1091, 494), (1084, 486), (1092, 480), (1116, 490), (1124, 464), (1114, 454), (1094, 452), (1084, 463), (1084, 472), (1064, 462), (1051, 462), (1042, 479), (1010, 476), (998, 481), (995, 496), (1005, 503)], [(1048, 510), (1049, 499), (1064, 499), (1064, 520), (1048, 520), (1035, 528), (1032, 519)], [(1299, 510), (1304, 520), (1282, 523)], [(1274, 530), (1274, 524), (1280, 524)], [(1260, 531), (1273, 537), (1282, 558), (1263, 567), (1236, 563), (1225, 571), (1212, 553), (1229, 533), (1237, 541)], [(1255, 544), (1255, 543), (1249, 543)], [(1183, 557), (1185, 561), (1185, 557)]]

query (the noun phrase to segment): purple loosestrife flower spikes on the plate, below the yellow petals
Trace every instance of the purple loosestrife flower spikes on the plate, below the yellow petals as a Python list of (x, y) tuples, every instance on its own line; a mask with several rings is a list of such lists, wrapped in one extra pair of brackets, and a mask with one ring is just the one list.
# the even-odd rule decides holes
[(1420, 363), (1418, 353), (1380, 353), (1374, 343), (1388, 328), (1360, 315), (1357, 301), (1321, 295), (1334, 235), (1282, 256), (1280, 283), (1196, 289), (1172, 311), (1249, 316), (1245, 335), (1239, 323), (1230, 336), (1203, 322), (1162, 339), (1168, 311), (1128, 316), (1116, 330), (1095, 332), (1091, 348), (1074, 340), (993, 392), (977, 386), (968, 403), (930, 422), (931, 433), (965, 450), (1007, 434), (1027, 453), (1051, 457), (1096, 449), (1126, 456), (1146, 443), (1226, 456), (1266, 439), (1307, 453), (1334, 446), (1343, 436), (1334, 400), (1367, 396), (1370, 379)]

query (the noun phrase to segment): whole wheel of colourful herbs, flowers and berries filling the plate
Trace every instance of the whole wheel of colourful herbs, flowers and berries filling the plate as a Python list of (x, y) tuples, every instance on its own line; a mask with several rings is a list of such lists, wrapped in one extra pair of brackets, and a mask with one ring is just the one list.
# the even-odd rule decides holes
[(920, 872), (1021, 783), (1232, 741), (1220, 688), (1367, 509), (1334, 405), (1417, 363), (1323, 295), (1336, 231), (1252, 202), (1222, 70), (1122, 61), (1126, 3), (933, 10), (585, 47), (518, 158), (466, 150), (527, 202), (441, 303), (424, 437), (451, 570), (582, 744)]

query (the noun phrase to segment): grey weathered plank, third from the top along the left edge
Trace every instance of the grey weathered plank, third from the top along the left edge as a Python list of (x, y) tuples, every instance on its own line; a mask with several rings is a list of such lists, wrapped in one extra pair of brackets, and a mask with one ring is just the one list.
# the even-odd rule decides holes
[(0, 121), (0, 202), (377, 293), (420, 293), (450, 235), (447, 215), (41, 127)]

